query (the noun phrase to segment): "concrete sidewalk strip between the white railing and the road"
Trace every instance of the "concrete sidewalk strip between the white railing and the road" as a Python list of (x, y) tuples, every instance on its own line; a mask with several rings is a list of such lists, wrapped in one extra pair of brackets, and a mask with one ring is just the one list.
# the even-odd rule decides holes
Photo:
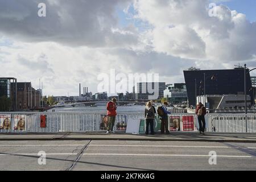
[(0, 140), (152, 140), (195, 142), (243, 142), (256, 143), (256, 134), (245, 133), (185, 133), (137, 135), (126, 133), (0, 133)]

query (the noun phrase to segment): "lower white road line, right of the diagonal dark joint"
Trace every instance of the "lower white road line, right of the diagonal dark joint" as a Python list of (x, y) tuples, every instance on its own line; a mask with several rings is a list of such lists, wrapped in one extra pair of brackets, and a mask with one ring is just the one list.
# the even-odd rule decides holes
[[(209, 157), (210, 155), (181, 155), (181, 154), (83, 154), (83, 155), (132, 155), (132, 156), (193, 156), (193, 157)], [(249, 155), (217, 155), (223, 158), (252, 158)]]

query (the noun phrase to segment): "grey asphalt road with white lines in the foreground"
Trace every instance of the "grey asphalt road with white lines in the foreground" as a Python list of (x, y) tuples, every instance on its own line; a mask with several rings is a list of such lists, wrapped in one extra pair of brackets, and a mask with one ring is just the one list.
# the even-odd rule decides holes
[[(39, 151), (46, 164), (39, 165)], [(0, 141), (0, 161), (0, 170), (256, 170), (256, 143)]]

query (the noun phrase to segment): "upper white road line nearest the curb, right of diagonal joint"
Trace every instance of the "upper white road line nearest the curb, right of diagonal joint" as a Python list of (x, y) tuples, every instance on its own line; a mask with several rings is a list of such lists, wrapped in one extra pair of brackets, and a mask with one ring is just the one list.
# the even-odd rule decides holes
[[(125, 145), (125, 144), (90, 144), (94, 147), (186, 147), (186, 148), (234, 148), (227, 146), (148, 146), (148, 145)], [(243, 147), (237, 147), (243, 148)], [(256, 147), (244, 147), (254, 149)]]

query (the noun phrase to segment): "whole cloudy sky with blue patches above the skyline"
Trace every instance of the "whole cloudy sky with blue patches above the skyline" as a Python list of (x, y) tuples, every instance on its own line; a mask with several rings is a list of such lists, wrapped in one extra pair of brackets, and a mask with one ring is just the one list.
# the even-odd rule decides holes
[(255, 0), (0, 0), (0, 77), (72, 96), (80, 82), (97, 92), (110, 69), (172, 83), (189, 67), (254, 68), (255, 10)]

